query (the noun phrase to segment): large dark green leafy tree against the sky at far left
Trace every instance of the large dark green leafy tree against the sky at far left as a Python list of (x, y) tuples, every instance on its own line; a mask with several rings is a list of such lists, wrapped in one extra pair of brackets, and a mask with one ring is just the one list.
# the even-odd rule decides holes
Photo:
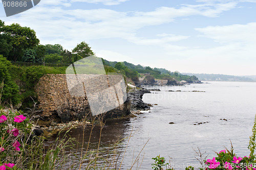
[(7, 43), (11, 44), (8, 59), (12, 61), (20, 61), (27, 48), (33, 48), (39, 43), (36, 33), (28, 27), (22, 27), (18, 23), (5, 26), (1, 21), (1, 34), (7, 36)]

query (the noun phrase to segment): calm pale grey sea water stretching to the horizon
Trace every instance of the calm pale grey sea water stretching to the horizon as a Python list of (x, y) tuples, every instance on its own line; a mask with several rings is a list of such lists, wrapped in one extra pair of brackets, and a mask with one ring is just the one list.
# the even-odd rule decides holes
[[(152, 169), (152, 158), (158, 155), (167, 161), (172, 158), (170, 160), (175, 169), (184, 169), (191, 164), (199, 165), (193, 149), (199, 147), (201, 152), (206, 151), (208, 158), (212, 158), (216, 155), (214, 151), (219, 152), (224, 147), (230, 149), (230, 140), (238, 156), (249, 155), (247, 147), (256, 114), (256, 83), (209, 82), (146, 88), (161, 90), (143, 95), (145, 103), (157, 104), (151, 111), (136, 118), (106, 123), (103, 128), (102, 151), (113, 141), (127, 137), (131, 132), (133, 134), (130, 140), (125, 139), (117, 148), (123, 152), (127, 145), (123, 169), (131, 168), (140, 152), (139, 161), (133, 169)], [(205, 92), (191, 92), (193, 90)], [(221, 120), (223, 118), (227, 121)], [(72, 130), (70, 135), (77, 138), (82, 135), (82, 131)], [(99, 129), (95, 128), (95, 141), (92, 143), (97, 143), (98, 136)], [(122, 154), (119, 159), (121, 157)]]

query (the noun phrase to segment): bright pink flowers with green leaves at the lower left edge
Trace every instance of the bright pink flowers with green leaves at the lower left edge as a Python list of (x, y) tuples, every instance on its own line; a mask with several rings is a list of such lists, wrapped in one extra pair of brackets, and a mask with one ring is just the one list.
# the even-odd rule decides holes
[[(5, 159), (2, 159), (6, 153), (8, 152), (17, 152), (20, 151), (20, 143), (18, 142), (19, 136), (19, 129), (22, 128), (23, 125), (20, 123), (23, 123), (26, 119), (26, 116), (20, 114), (16, 115), (15, 117), (10, 116), (10, 118), (7, 118), (6, 115), (2, 114), (0, 116), (0, 131), (1, 131), (1, 138), (0, 138), (0, 170), (10, 169), (15, 166), (14, 163), (3, 163)], [(24, 124), (25, 125), (25, 124)], [(6, 133), (4, 133), (6, 132)], [(11, 148), (11, 146), (13, 148)], [(12, 151), (11, 151), (11, 150)], [(6, 153), (5, 153), (6, 152)]]

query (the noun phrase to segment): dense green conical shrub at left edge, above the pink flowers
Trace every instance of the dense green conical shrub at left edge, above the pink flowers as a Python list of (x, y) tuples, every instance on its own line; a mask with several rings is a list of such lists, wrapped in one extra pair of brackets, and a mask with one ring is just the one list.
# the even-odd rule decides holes
[(17, 104), (19, 103), (18, 86), (9, 74), (9, 67), (11, 62), (3, 55), (0, 55), (0, 103)]

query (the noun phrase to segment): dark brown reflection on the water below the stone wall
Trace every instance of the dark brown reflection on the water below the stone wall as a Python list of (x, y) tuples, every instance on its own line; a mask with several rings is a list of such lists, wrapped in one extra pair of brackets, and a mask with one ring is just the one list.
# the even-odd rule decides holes
[[(83, 163), (81, 169), (85, 169), (88, 165), (89, 159), (93, 159), (95, 155), (98, 153), (97, 162), (101, 166), (111, 166), (118, 167), (121, 162), (121, 158), (123, 156), (123, 151), (125, 149), (126, 143), (121, 141), (124, 139), (125, 132), (130, 130), (130, 119), (125, 118), (121, 120), (108, 120), (105, 122), (104, 127), (102, 128), (100, 144), (100, 125), (95, 125), (92, 129), (91, 126), (87, 126), (84, 131), (83, 127), (79, 127), (76, 129), (71, 129), (67, 135), (75, 138), (78, 141), (78, 144), (75, 144), (74, 150), (67, 149), (67, 155), (71, 154), (69, 157), (70, 162), (67, 162), (66, 166), (69, 167), (72, 164), (77, 164), (77, 169), (79, 168), (81, 153), (82, 157), (87, 154), (86, 159), (83, 159)], [(92, 130), (92, 131), (91, 131)], [(84, 137), (83, 137), (84, 132)], [(63, 138), (66, 132), (60, 133), (60, 138)], [(91, 136), (90, 136), (91, 134)], [(51, 144), (55, 143), (55, 139), (57, 138), (57, 134), (53, 135), (47, 142), (46, 147), (48, 148)], [(90, 143), (89, 143), (90, 140)], [(83, 148), (82, 148), (83, 144)], [(88, 147), (89, 144), (89, 147)], [(98, 151), (99, 144), (99, 152)], [(87, 150), (88, 148), (88, 150)]]

